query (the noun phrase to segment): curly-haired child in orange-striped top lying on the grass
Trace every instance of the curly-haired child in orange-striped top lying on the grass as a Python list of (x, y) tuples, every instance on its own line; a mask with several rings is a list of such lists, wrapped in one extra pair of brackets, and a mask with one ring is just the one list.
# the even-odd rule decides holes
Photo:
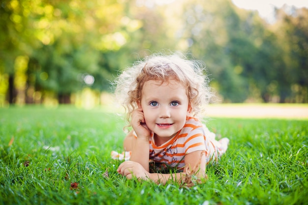
[[(226, 151), (229, 140), (216, 141), (198, 119), (211, 97), (201, 65), (177, 55), (153, 55), (118, 77), (116, 95), (132, 126), (123, 143), (131, 156), (118, 173), (166, 183), (180, 182), (188, 169), (197, 168), (195, 175), (204, 178), (206, 164)], [(178, 172), (150, 173), (149, 160), (156, 169), (172, 167)]]

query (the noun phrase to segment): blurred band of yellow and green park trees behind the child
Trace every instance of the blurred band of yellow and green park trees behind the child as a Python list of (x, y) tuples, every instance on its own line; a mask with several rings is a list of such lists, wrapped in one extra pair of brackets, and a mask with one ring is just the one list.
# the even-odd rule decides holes
[(163, 50), (202, 60), (219, 102), (308, 103), (308, 8), (234, 2), (1, 0), (0, 107), (110, 104), (119, 72)]

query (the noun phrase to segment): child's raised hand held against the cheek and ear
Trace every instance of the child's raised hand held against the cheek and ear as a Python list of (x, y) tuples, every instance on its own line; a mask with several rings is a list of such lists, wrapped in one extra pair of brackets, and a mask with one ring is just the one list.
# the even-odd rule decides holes
[(138, 138), (149, 139), (151, 135), (151, 131), (146, 125), (146, 121), (144, 119), (142, 108), (138, 108), (133, 111), (132, 117), (131, 117), (131, 126), (136, 132)]

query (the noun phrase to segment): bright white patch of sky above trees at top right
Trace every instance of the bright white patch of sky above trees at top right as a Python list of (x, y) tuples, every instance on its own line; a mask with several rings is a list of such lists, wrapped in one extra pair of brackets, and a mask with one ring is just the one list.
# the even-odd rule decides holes
[(273, 20), (274, 8), (280, 8), (284, 4), (308, 8), (308, 0), (232, 0), (232, 2), (240, 8), (257, 10), (260, 16), (268, 21)]

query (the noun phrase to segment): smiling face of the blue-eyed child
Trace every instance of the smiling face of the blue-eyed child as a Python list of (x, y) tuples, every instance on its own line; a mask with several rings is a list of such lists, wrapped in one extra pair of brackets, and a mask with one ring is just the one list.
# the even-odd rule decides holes
[(183, 128), (190, 110), (186, 89), (175, 80), (163, 84), (154, 80), (145, 82), (139, 107), (147, 127), (163, 141)]

